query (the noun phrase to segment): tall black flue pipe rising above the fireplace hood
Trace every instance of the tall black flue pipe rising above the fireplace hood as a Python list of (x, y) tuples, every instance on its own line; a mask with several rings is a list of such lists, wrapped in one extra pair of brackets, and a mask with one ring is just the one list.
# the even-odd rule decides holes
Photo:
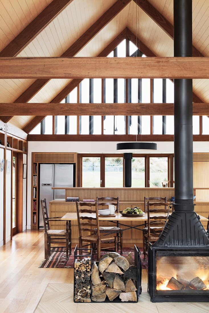
[[(192, 0), (174, 1), (174, 56), (192, 57)], [(192, 80), (174, 80), (175, 211), (193, 211)]]

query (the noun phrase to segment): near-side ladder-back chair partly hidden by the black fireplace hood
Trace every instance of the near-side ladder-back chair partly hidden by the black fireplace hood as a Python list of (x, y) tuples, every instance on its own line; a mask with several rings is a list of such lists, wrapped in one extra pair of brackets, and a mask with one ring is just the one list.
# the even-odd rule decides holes
[[(167, 206), (168, 208), (162, 208)], [(153, 207), (153, 208), (152, 208)], [(157, 208), (161, 207), (161, 208)], [(153, 244), (158, 240), (159, 235), (162, 233), (165, 223), (168, 219), (170, 209), (169, 205), (165, 202), (147, 203), (147, 232), (144, 234), (144, 261), (146, 261), (146, 255), (149, 247), (149, 243)], [(152, 213), (156, 213), (153, 215)], [(160, 213), (166, 213), (160, 215)], [(150, 216), (150, 214), (152, 214)]]

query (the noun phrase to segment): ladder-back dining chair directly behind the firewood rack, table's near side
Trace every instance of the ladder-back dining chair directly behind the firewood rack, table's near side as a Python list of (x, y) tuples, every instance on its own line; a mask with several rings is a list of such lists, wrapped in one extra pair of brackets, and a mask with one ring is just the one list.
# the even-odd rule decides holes
[[(92, 210), (92, 207), (95, 208), (95, 210)], [(117, 252), (117, 235), (115, 236), (112, 235), (111, 237), (108, 238), (107, 236), (100, 236), (97, 202), (95, 203), (76, 202), (76, 211), (78, 219), (79, 247), (81, 249), (81, 255), (84, 242), (90, 243), (91, 245), (96, 244), (97, 261), (100, 260), (100, 252), (102, 249), (101, 244), (109, 244), (110, 242), (113, 242), (114, 246), (108, 247), (108, 249), (114, 248), (115, 251)], [(86, 213), (86, 215), (84, 215), (84, 213)], [(97, 228), (97, 232), (92, 233), (95, 228)]]

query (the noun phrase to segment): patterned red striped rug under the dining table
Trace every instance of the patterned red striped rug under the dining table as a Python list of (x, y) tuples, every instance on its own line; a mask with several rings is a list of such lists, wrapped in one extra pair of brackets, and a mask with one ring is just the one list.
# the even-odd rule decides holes
[[(108, 251), (101, 251), (101, 255), (106, 254)], [(127, 256), (131, 252), (134, 259), (134, 248), (123, 248), (123, 256)], [(140, 258), (142, 261), (142, 269), (148, 269), (148, 262), (144, 262), (143, 249), (140, 248)], [(93, 259), (94, 260), (94, 259)], [(59, 269), (71, 269), (74, 267), (74, 249), (69, 259), (66, 258), (66, 252), (63, 248), (56, 248), (55, 251), (50, 255), (48, 260), (44, 260), (39, 268), (59, 268)]]

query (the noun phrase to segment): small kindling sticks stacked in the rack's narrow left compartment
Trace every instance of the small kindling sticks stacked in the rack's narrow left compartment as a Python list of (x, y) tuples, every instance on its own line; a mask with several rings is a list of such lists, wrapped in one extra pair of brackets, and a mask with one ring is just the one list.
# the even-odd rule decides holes
[(91, 259), (84, 258), (81, 261), (76, 259), (74, 276), (74, 300), (76, 302), (91, 302)]

